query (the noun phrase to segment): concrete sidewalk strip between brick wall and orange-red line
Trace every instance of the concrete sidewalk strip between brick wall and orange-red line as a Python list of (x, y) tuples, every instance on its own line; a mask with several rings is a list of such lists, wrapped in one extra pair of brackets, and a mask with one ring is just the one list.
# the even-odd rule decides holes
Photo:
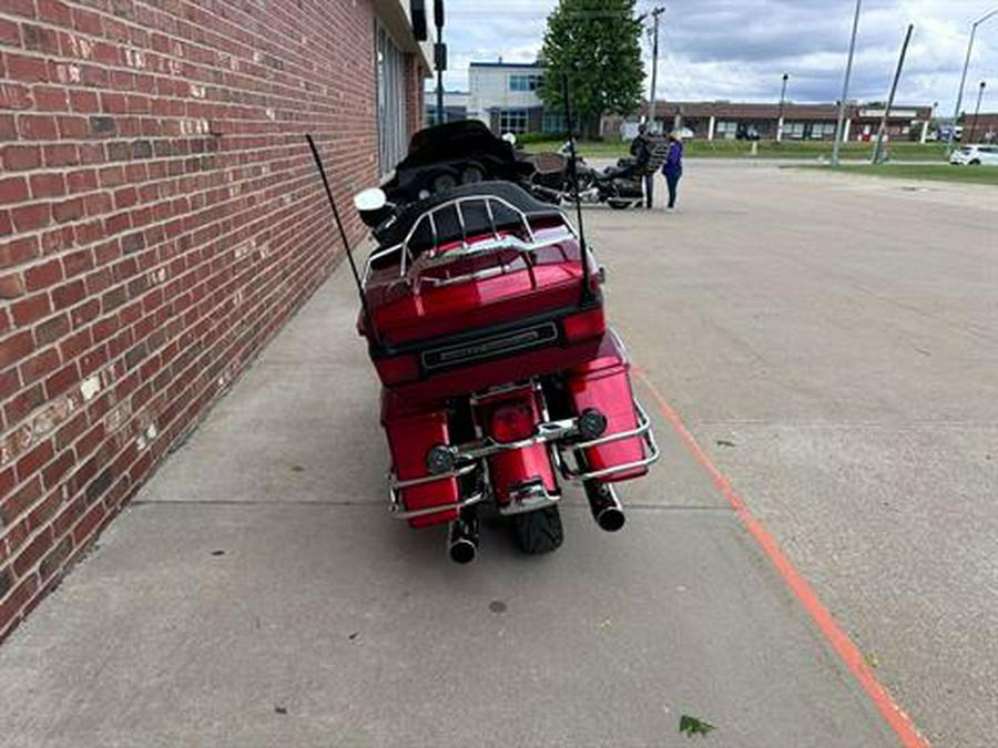
[(4, 746), (896, 745), (663, 422), (617, 535), (391, 520), (355, 314), (342, 268), (9, 638)]

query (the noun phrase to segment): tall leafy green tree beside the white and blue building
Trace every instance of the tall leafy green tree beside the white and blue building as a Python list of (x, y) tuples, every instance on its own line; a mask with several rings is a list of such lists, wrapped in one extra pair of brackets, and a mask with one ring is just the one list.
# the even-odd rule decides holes
[(641, 103), (641, 21), (634, 0), (560, 0), (548, 17), (539, 55), (544, 78), (540, 98), (564, 111), (562, 81), (569, 81), (577, 127), (599, 133), (603, 114), (630, 114)]

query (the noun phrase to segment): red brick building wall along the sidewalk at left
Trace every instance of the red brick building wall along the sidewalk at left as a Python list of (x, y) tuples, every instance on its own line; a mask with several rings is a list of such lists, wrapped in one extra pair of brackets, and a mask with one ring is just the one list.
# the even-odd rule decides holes
[(304, 134), (404, 154), (408, 4), (0, 4), (0, 641), (340, 258)]

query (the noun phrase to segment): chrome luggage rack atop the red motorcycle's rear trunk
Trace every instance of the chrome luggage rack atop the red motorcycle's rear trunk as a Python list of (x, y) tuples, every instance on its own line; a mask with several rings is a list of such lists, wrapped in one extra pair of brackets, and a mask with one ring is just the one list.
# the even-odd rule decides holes
[[(489, 221), (488, 235), (478, 234), (476, 232), (475, 236), (469, 237), (468, 223), (465, 213), (472, 204), (479, 204), (485, 208), (485, 213)], [(498, 209), (508, 211), (513, 214), (513, 221), (502, 222), (502, 224), (497, 222), (496, 209), (493, 209), (493, 206)], [(448, 242), (441, 246), (440, 232), (438, 230), (438, 217), (445, 211), (452, 211), (454, 215), (457, 216), (457, 223), (461, 229), (459, 240), (460, 246), (452, 246), (454, 244), (457, 244), (456, 242)], [(564, 242), (566, 238), (576, 236), (574, 230), (564, 217), (562, 217), (561, 223), (564, 228), (563, 234), (539, 240), (533, 232), (533, 227), (530, 225), (530, 216), (509, 201), (496, 195), (456, 197), (420, 214), (400, 243), (371, 253), (370, 257), (367, 258), (367, 265), (364, 270), (364, 283), (366, 285), (370, 279), (374, 263), (379, 259), (385, 259), (395, 253), (399, 254), (399, 265), (398, 278), (393, 283), (401, 280), (418, 288), (420, 283), (446, 285), (467, 280), (472, 277), (479, 278), (483, 273), (488, 275), (505, 273), (507, 271), (507, 263), (502, 263), (499, 268), (490, 268), (486, 271), (470, 273), (445, 279), (425, 278), (422, 276), (425, 270), (449, 265), (467, 257), (490, 252), (507, 250), (515, 252), (517, 255), (523, 257), (527, 269), (531, 274), (531, 281), (536, 284), (536, 280), (533, 279), (533, 263), (531, 262), (532, 254), (538, 249), (556, 246)], [(500, 232), (500, 225), (506, 226), (507, 224), (510, 224), (513, 227), (511, 229), (503, 227)], [(429, 229), (429, 235), (432, 238), (431, 245), (416, 255), (413, 252), (413, 239), (415, 236), (419, 235), (420, 232), (425, 232), (426, 229)]]

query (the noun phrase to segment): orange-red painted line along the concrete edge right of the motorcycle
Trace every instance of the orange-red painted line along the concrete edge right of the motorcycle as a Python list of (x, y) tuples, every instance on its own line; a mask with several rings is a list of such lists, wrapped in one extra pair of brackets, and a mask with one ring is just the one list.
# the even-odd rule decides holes
[(745, 506), (745, 502), (735, 492), (731, 482), (729, 482), (724, 474), (717, 470), (713, 462), (711, 462), (706, 452), (703, 451), (703, 448), (700, 447), (696, 439), (694, 439), (693, 434), (686, 429), (679, 414), (672, 409), (655, 386), (652, 385), (651, 380), (645, 376), (642, 369), (632, 366), (632, 370), (654, 397), (662, 416), (669, 421), (669, 426), (672, 427), (672, 430), (675, 431), (676, 436), (682, 440), (697, 464), (700, 464), (704, 472), (711, 477), (711, 480), (714, 482), (717, 490), (731, 502), (732, 509), (734, 509), (735, 513), (739, 515), (739, 520), (741, 520), (748, 533), (762, 546), (766, 556), (768, 556), (770, 561), (776, 567), (776, 572), (804, 605), (804, 609), (807, 611), (812, 621), (814, 621), (815, 625), (822, 632), (822, 635), (838, 655), (839, 659), (842, 659), (843, 664), (855, 676), (856, 680), (859, 682), (863, 690), (866, 691), (866, 695), (874, 703), (874, 706), (884, 719), (887, 720), (887, 724), (890, 725), (892, 729), (897, 734), (897, 737), (900, 738), (900, 745), (904, 748), (929, 748), (928, 740), (918, 732), (912, 718), (905, 714), (904, 709), (897, 705), (890, 697), (890, 694), (887, 693), (887, 689), (884, 688), (879, 680), (877, 680), (877, 677), (866, 664), (859, 649), (853, 644), (853, 641), (848, 635), (838, 627), (838, 624), (835, 623), (832, 614), (828, 613), (828, 609), (824, 605), (822, 605), (822, 602), (818, 600), (818, 596), (812, 586), (807, 583), (807, 580), (801, 575), (793, 563), (791, 563), (790, 559), (786, 557), (773, 536), (766, 532), (765, 527), (763, 527), (754, 516), (752, 516), (752, 513)]

